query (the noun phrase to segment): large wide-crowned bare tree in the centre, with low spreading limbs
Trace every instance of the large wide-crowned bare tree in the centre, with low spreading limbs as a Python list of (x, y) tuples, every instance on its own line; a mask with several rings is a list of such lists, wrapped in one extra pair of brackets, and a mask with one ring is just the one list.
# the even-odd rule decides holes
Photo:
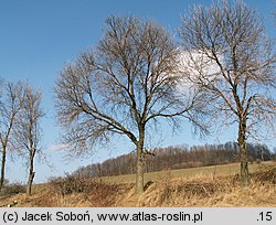
[(82, 153), (116, 135), (129, 138), (137, 152), (136, 191), (142, 193), (147, 135), (161, 119), (197, 124), (193, 115), (202, 107), (200, 94), (179, 87), (178, 61), (170, 34), (156, 22), (107, 18), (96, 50), (65, 66), (56, 81), (59, 121), (71, 150)]

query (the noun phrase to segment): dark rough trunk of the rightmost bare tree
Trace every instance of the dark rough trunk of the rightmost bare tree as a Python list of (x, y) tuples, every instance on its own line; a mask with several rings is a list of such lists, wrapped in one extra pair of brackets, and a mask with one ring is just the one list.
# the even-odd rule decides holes
[(237, 143), (240, 148), (241, 160), (241, 184), (242, 186), (248, 185), (248, 159), (246, 147), (246, 118), (240, 119)]

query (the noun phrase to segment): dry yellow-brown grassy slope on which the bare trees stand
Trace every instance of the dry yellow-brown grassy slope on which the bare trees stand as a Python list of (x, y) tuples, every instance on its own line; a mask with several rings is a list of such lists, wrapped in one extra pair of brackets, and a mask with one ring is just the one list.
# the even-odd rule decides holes
[(240, 164), (170, 170), (145, 174), (146, 190), (135, 193), (135, 175), (36, 184), (32, 196), (24, 193), (0, 197), (0, 205), (43, 207), (89, 206), (276, 206), (276, 162), (250, 164), (251, 184), (241, 188)]

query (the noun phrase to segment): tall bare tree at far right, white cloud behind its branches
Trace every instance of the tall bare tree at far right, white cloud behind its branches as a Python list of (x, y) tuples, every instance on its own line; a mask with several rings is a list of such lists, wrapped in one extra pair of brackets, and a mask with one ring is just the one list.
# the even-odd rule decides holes
[(183, 73), (213, 99), (214, 118), (238, 126), (241, 182), (247, 185), (246, 139), (275, 125), (273, 45), (257, 13), (241, 1), (194, 7), (182, 18), (180, 35)]

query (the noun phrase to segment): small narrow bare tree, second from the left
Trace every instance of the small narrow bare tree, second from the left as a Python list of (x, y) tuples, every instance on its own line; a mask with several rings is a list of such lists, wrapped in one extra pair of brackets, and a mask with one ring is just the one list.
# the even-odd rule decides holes
[[(34, 157), (41, 151), (41, 128), (40, 121), (44, 116), (41, 108), (42, 95), (31, 87), (25, 87), (25, 97), (22, 109), (14, 127), (15, 144), (21, 150), (21, 156), (26, 157), (29, 178), (26, 183), (26, 194), (32, 193), (32, 183), (35, 175)], [(28, 154), (25, 153), (28, 152)]]

